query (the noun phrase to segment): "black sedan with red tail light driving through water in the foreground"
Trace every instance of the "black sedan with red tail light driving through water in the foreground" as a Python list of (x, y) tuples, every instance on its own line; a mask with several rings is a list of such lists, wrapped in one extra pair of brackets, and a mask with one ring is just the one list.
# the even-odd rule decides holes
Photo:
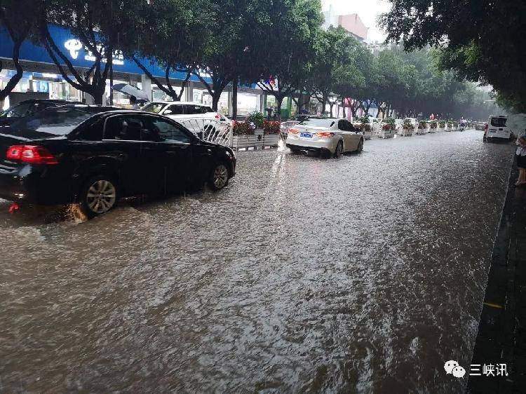
[(40, 111), (0, 131), (0, 198), (41, 205), (78, 202), (88, 217), (121, 197), (182, 191), (234, 176), (234, 151), (142, 111)]

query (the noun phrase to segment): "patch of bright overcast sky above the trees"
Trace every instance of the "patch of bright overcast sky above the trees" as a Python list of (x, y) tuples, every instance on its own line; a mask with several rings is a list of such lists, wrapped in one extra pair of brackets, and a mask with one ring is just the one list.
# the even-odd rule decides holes
[(365, 26), (369, 27), (367, 41), (383, 41), (385, 34), (377, 27), (377, 16), (389, 11), (391, 4), (386, 0), (321, 0), (325, 11), (329, 5), (338, 15), (357, 13)]

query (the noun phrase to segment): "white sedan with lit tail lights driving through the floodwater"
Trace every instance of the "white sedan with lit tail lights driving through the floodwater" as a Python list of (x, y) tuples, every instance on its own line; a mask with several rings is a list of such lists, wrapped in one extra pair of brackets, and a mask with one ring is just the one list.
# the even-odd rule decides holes
[(318, 151), (338, 158), (344, 152), (363, 149), (363, 134), (343, 118), (308, 118), (289, 128), (287, 147), (293, 153)]

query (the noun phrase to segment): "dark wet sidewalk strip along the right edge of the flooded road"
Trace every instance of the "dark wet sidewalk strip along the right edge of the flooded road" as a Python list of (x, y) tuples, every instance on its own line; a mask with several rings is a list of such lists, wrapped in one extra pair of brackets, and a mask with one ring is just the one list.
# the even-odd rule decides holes
[(515, 188), (517, 177), (514, 159), (471, 361), (481, 372), (505, 363), (508, 376), (468, 376), (466, 393), (526, 391), (526, 188)]

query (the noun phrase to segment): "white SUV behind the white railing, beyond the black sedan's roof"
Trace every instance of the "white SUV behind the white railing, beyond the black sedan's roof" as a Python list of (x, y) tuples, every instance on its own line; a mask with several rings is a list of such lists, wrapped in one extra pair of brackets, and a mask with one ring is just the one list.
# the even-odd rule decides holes
[(231, 120), (227, 116), (198, 102), (155, 101), (142, 107), (142, 111), (180, 121), (199, 137), (202, 137), (200, 133), (203, 130), (215, 131), (213, 129), (217, 127), (231, 126)]

